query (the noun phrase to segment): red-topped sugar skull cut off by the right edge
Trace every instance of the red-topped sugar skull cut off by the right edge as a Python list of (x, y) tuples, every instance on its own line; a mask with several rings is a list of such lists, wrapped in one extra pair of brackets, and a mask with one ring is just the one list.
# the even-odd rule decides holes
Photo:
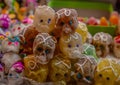
[(120, 58), (120, 36), (114, 38), (114, 54), (116, 57)]

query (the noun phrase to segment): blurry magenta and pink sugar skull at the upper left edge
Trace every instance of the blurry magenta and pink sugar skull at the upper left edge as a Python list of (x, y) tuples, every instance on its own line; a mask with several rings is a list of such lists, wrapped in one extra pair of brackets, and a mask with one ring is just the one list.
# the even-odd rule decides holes
[(7, 29), (9, 28), (10, 25), (10, 18), (8, 17), (7, 14), (1, 14), (0, 15), (0, 27)]

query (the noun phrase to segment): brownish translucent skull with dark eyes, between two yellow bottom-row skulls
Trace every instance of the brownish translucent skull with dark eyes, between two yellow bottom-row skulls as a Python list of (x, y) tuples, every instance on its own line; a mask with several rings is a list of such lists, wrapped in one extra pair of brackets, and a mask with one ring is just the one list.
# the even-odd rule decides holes
[(96, 65), (96, 59), (87, 55), (83, 55), (79, 61), (75, 63), (76, 71), (74, 78), (78, 85), (93, 85)]

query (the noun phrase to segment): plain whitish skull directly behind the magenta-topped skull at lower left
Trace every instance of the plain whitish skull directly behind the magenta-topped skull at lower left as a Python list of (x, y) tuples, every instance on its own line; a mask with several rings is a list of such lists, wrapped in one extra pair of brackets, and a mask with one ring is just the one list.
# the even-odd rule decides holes
[(18, 61), (21, 61), (18, 54), (12, 52), (5, 53), (1, 59), (1, 62), (4, 64), (5, 73), (9, 73), (10, 68)]

